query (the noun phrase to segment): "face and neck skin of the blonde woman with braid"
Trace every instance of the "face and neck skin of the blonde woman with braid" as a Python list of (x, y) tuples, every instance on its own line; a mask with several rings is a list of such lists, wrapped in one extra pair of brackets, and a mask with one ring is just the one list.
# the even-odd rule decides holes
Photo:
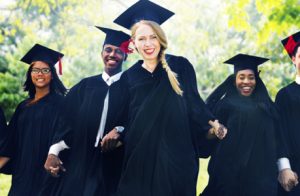
[(144, 68), (153, 72), (158, 64), (161, 46), (156, 33), (146, 24), (141, 24), (135, 33), (133, 44), (144, 60)]

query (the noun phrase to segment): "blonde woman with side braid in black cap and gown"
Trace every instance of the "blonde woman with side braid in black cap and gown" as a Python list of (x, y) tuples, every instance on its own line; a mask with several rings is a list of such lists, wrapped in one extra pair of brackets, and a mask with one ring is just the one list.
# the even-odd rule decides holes
[(142, 0), (114, 21), (131, 29), (142, 58), (121, 78), (129, 109), (118, 196), (195, 195), (197, 135), (208, 134), (209, 122), (220, 138), (226, 132), (201, 99), (191, 63), (165, 55), (168, 44), (160, 25), (173, 14)]

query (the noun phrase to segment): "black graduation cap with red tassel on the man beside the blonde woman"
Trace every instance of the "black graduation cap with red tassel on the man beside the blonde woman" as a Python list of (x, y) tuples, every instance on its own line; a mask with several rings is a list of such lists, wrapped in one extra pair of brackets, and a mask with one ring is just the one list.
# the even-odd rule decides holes
[(129, 48), (130, 36), (123, 31), (117, 31), (114, 29), (109, 29), (105, 27), (96, 26), (98, 29), (106, 34), (104, 44), (111, 44), (119, 47), (124, 53), (132, 53), (133, 49)]

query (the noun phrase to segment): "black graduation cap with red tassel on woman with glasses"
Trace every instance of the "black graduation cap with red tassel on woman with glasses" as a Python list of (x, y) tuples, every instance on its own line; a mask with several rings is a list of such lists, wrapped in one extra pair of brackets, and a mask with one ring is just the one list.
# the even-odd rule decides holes
[(43, 61), (49, 66), (54, 66), (59, 61), (59, 74), (62, 74), (61, 58), (64, 54), (42, 46), (35, 44), (21, 59), (22, 62), (31, 65), (35, 61)]

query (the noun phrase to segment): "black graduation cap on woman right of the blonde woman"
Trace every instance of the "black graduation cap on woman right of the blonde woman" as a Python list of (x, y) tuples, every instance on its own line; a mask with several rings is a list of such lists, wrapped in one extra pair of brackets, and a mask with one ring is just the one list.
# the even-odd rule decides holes
[(244, 69), (251, 69), (254, 73), (258, 73), (257, 67), (268, 61), (267, 58), (262, 58), (258, 56), (251, 56), (247, 54), (237, 54), (236, 56), (230, 58), (229, 60), (225, 61), (226, 64), (233, 64), (234, 65), (234, 73), (237, 73), (240, 70)]

